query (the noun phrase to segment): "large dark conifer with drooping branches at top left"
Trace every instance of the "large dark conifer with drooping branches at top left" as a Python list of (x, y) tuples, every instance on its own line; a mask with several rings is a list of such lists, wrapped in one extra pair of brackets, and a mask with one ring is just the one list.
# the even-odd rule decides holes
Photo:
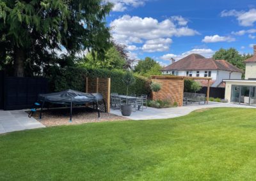
[(47, 68), (56, 59), (53, 50), (68, 54), (97, 51), (103, 59), (111, 35), (105, 17), (112, 8), (103, 0), (1, 0), (0, 57), (11, 57), (15, 76), (24, 69)]

